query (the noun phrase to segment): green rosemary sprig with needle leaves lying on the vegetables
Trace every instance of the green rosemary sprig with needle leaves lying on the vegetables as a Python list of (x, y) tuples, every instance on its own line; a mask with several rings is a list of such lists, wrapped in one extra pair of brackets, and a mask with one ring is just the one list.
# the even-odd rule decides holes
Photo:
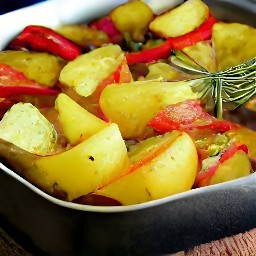
[(176, 56), (170, 61), (185, 72), (202, 75), (187, 82), (198, 93), (205, 109), (214, 110), (217, 118), (222, 118), (223, 109), (233, 110), (256, 94), (256, 58), (213, 74), (190, 67)]

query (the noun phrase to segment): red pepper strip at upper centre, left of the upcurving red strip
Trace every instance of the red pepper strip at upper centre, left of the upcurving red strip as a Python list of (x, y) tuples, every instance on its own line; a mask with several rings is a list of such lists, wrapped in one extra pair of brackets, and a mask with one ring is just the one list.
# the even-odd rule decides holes
[(126, 53), (126, 60), (128, 65), (136, 63), (149, 63), (159, 59), (166, 59), (170, 56), (172, 50), (172, 39), (167, 39), (160, 46), (142, 50), (140, 52)]

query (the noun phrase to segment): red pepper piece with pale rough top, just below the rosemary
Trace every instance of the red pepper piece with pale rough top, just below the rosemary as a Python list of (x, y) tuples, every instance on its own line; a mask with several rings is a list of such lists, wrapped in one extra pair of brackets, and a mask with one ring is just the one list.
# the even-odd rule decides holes
[(203, 110), (198, 101), (184, 101), (170, 105), (152, 118), (148, 125), (159, 133), (193, 129), (226, 132), (237, 127), (232, 122), (212, 117)]

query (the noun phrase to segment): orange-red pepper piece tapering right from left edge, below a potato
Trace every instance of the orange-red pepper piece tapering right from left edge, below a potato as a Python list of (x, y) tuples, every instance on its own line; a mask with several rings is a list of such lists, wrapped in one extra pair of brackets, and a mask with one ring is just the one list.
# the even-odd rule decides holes
[(21, 94), (57, 95), (58, 90), (41, 85), (28, 79), (25, 75), (8, 66), (0, 64), (0, 97), (9, 98)]

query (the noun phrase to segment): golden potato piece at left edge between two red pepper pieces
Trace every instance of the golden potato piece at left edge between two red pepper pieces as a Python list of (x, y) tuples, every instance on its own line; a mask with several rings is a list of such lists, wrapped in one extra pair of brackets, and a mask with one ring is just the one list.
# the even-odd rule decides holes
[(54, 86), (58, 82), (60, 71), (66, 65), (66, 61), (57, 56), (28, 51), (2, 51), (0, 63), (7, 64), (27, 78), (48, 86)]

